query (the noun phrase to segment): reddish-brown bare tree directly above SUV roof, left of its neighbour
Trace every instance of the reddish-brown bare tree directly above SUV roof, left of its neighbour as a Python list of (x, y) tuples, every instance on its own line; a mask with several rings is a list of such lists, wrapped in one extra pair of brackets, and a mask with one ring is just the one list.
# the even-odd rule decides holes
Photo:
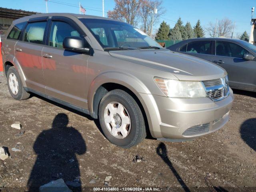
[(108, 17), (136, 26), (142, 0), (114, 0), (114, 10), (108, 11)]

